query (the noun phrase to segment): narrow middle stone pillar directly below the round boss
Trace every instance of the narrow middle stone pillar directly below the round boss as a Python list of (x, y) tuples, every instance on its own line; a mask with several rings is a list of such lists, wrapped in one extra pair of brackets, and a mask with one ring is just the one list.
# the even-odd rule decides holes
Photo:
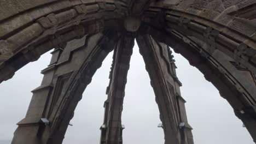
[(106, 94), (108, 98), (104, 103), (104, 122), (101, 126), (101, 144), (123, 143), (123, 129), (121, 112), (125, 96), (127, 73), (130, 68), (132, 48), (134, 46), (132, 33), (123, 35), (114, 49), (113, 63), (109, 75), (109, 86)]

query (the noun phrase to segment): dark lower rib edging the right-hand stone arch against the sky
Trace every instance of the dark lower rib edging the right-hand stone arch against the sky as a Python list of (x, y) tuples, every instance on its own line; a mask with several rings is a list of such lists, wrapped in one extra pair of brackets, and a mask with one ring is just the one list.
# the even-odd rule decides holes
[(238, 67), (234, 59), (220, 51), (211, 53), (211, 49), (203, 47), (204, 43), (198, 39), (186, 37), (174, 30), (172, 33), (165, 33), (149, 28), (148, 32), (175, 52), (181, 53), (191, 65), (201, 71), (206, 80), (213, 83), (255, 141), (255, 74)]

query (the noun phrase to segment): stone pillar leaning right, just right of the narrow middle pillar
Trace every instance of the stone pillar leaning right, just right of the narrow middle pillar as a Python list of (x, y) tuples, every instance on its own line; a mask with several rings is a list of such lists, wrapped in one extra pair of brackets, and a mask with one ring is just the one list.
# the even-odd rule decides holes
[[(136, 40), (156, 96), (165, 143), (184, 143), (183, 140), (186, 139), (187, 133), (180, 128), (180, 124), (190, 126), (184, 103), (181, 103), (177, 97), (177, 94), (181, 95), (179, 87), (182, 83), (176, 76), (176, 65), (171, 51), (167, 45), (159, 43), (150, 35), (142, 32), (137, 35)], [(190, 141), (193, 141), (191, 136)]]

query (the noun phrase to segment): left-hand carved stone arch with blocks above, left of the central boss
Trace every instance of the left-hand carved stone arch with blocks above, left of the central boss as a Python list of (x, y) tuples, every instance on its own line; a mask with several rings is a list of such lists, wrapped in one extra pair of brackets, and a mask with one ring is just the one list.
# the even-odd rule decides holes
[[(0, 19), (0, 82), (36, 61), (43, 53), (65, 47), (72, 39), (102, 32), (125, 15), (121, 1), (3, 1)], [(19, 11), (19, 13), (16, 12)]]

